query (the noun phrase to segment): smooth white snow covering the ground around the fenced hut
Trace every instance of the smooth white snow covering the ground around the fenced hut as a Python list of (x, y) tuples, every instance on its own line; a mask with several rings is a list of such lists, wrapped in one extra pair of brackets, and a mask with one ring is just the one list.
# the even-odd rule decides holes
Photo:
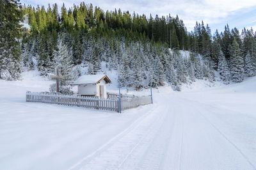
[(118, 114), (25, 102), (52, 83), (37, 74), (0, 80), (0, 169), (256, 169), (256, 77), (154, 89)]

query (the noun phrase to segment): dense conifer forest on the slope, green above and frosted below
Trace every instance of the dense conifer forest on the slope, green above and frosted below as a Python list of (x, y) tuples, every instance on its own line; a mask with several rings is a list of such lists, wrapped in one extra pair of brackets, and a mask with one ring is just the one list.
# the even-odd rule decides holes
[[(152, 81), (154, 87), (168, 83), (179, 91), (180, 84), (196, 79), (216, 81), (217, 72), (225, 84), (256, 74), (253, 29), (239, 33), (227, 25), (212, 34), (202, 21), (188, 32), (178, 15), (147, 18), (85, 3), (63, 4), (58, 11), (57, 4), (0, 2), (1, 79), (16, 80), (23, 70), (35, 69), (47, 76), (58, 66), (65, 77), (61, 91), (68, 93), (81, 68), (96, 74), (104, 66), (116, 70), (122, 87), (148, 88)], [(22, 29), (25, 21), (30, 29)]]

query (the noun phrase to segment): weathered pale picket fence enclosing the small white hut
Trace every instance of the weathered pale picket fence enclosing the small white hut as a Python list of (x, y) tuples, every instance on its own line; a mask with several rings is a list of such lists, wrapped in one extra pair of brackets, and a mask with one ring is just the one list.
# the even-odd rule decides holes
[[(111, 94), (111, 98), (97, 98), (97, 97), (81, 97), (72, 95), (61, 95), (58, 93), (44, 93), (28, 91), (26, 93), (26, 102), (42, 102), (47, 104), (60, 104), (76, 107), (85, 107), (88, 109), (100, 109), (106, 111), (119, 112), (119, 96), (115, 93)], [(138, 107), (139, 105), (151, 104), (150, 96), (134, 97), (122, 95), (121, 97), (121, 111)]]

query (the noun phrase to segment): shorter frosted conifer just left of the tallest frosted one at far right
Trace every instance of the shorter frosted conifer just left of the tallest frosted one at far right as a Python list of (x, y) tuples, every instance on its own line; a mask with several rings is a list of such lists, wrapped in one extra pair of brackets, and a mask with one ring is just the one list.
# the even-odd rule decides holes
[(230, 71), (222, 51), (220, 53), (218, 61), (218, 72), (220, 73), (220, 78), (225, 84), (228, 84), (230, 81)]

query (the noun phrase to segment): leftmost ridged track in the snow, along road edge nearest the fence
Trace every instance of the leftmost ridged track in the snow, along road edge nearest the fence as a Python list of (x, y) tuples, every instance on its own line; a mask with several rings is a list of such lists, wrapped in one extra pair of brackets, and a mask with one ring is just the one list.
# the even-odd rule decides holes
[(118, 165), (122, 166), (122, 162), (127, 160), (127, 157), (131, 155), (136, 146), (140, 145), (141, 141), (150, 132), (156, 130), (155, 127), (159, 125), (159, 121), (163, 121), (163, 114), (154, 113), (148, 115), (147, 118), (140, 122), (138, 127), (118, 139), (112, 146), (102, 151), (98, 157), (93, 158), (81, 169), (116, 169)]

